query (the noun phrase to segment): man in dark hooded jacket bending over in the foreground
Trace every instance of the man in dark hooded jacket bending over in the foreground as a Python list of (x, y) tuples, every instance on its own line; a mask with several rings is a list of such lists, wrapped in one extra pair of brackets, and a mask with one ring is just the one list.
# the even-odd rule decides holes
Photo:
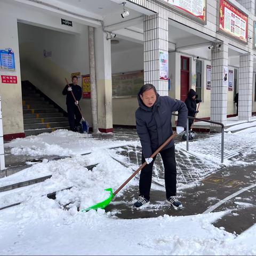
[[(139, 108), (135, 113), (137, 133), (142, 147), (141, 162), (147, 165), (141, 170), (139, 197), (134, 207), (139, 208), (149, 203), (152, 169), (156, 159), (150, 156), (172, 135), (172, 112), (178, 111), (177, 133), (184, 131), (188, 110), (184, 102), (168, 96), (159, 96), (153, 84), (145, 84), (138, 93)], [(181, 209), (182, 204), (176, 196), (176, 161), (174, 140), (165, 146), (160, 155), (164, 163), (166, 202), (174, 209)]]

